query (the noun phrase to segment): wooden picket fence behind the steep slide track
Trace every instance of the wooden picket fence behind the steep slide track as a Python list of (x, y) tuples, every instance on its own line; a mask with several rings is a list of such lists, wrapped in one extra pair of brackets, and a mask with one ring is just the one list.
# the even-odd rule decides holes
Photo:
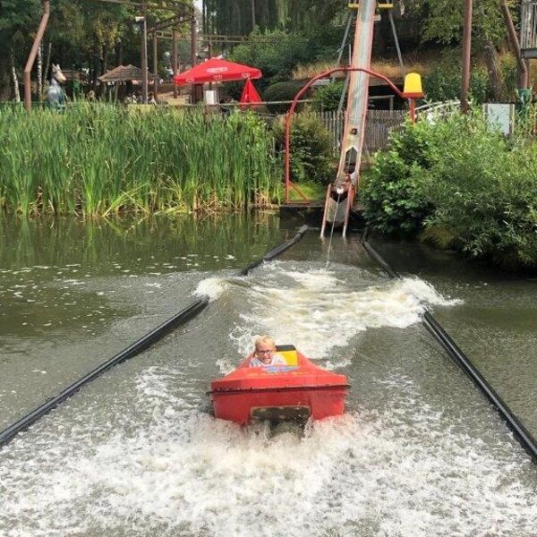
[[(341, 136), (345, 124), (345, 113), (318, 112), (327, 130), (332, 135), (334, 155), (339, 154)], [(408, 112), (405, 110), (368, 110), (365, 119), (365, 138), (363, 150), (372, 153), (388, 146), (389, 132), (405, 123)]]

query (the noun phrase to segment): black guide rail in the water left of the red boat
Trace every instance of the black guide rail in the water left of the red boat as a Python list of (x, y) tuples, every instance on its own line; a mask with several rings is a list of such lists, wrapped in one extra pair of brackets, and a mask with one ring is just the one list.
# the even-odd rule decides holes
[[(264, 261), (272, 260), (276, 258), (280, 253), (286, 251), (288, 248), (293, 246), (294, 243), (297, 243), (302, 239), (303, 235), (308, 230), (308, 226), (303, 226), (299, 229), (298, 234), (294, 236), (293, 239), (286, 241), (285, 243), (280, 244), (276, 248), (268, 251), (262, 259), (252, 263), (247, 268), (244, 268), (241, 271), (242, 276), (246, 276), (252, 268), (260, 266)], [(134, 356), (141, 354), (142, 351), (147, 350), (151, 345), (157, 343), (162, 337), (166, 336), (169, 332), (175, 328), (183, 325), (188, 320), (191, 320), (193, 317), (198, 315), (200, 311), (203, 311), (209, 305), (209, 298), (200, 298), (196, 300), (184, 310), (179, 311), (173, 317), (163, 322), (157, 328), (150, 331), (145, 336), (141, 337), (138, 341), (134, 342), (132, 345), (129, 345), (121, 353), (115, 354), (114, 357), (107, 360), (107, 362), (101, 363), (93, 371), (90, 371), (87, 375), (78, 379), (76, 382), (73, 382), (71, 386), (67, 387), (55, 397), (47, 399), (43, 405), (38, 406), (38, 408), (32, 410), (30, 413), (27, 413), (22, 417), (18, 422), (14, 422), (7, 429), (4, 429), (0, 432), (0, 448), (8, 444), (13, 438), (23, 430), (27, 430), (30, 425), (37, 422), (39, 418), (42, 418), (44, 415), (53, 410), (56, 406), (64, 403), (66, 399), (74, 395), (79, 389), (83, 388), (86, 384), (89, 384), (92, 380), (97, 379), (104, 372), (112, 369), (115, 365), (125, 362), (133, 358)]]

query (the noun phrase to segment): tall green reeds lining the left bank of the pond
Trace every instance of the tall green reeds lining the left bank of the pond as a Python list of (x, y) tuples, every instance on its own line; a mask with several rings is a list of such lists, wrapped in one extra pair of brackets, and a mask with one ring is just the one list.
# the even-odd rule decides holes
[(0, 208), (106, 216), (268, 205), (281, 190), (273, 143), (251, 114), (8, 107), (0, 112)]

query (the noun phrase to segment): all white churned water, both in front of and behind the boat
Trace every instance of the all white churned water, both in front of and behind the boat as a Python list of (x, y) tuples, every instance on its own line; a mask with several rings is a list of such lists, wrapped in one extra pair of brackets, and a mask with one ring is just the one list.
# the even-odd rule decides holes
[[(324, 357), (362, 330), (405, 328), (428, 304), (456, 303), (417, 278), (359, 288), (335, 272), (282, 267), (234, 287), (244, 316), (231, 337), (244, 354), (262, 331)], [(217, 297), (236, 283), (211, 278), (199, 291)], [(371, 379), (388, 402), (379, 410), (277, 434), (215, 420), (195, 382), (149, 368), (122, 422), (92, 429), (91, 409), (80, 409), (61, 443), (50, 432), (47, 449), (32, 452), (22, 437), (0, 452), (0, 534), (535, 536), (529, 459), (507, 435), (490, 447), (463, 418), (445, 422), (410, 379)], [(47, 420), (61, 425), (61, 412)]]

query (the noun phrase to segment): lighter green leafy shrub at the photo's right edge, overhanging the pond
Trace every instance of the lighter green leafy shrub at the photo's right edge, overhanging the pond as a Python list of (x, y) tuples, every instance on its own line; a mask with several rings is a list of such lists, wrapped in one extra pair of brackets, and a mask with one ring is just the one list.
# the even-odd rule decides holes
[(426, 226), (444, 227), (473, 258), (537, 267), (537, 144), (511, 146), (482, 115), (457, 115), (431, 146)]

